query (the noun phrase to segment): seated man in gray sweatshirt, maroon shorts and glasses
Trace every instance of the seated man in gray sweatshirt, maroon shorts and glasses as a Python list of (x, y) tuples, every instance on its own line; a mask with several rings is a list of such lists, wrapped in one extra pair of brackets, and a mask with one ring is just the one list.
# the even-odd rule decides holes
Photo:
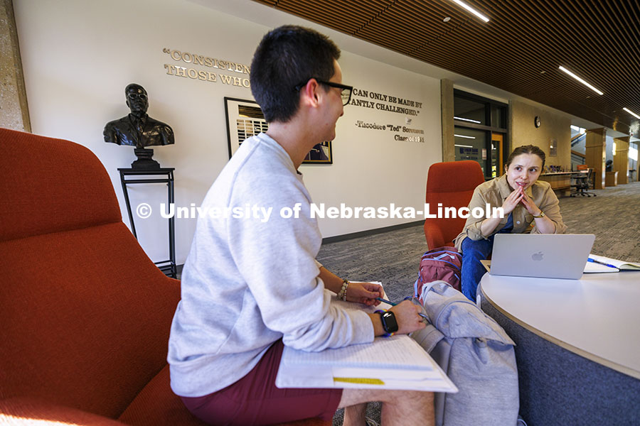
[(351, 97), (339, 56), (307, 28), (265, 35), (251, 87), (269, 130), (242, 142), (203, 200), (210, 214), (198, 219), (183, 269), (168, 360), (171, 388), (211, 424), (330, 420), (345, 407), (345, 425), (364, 425), (366, 403), (382, 401), (385, 426), (432, 425), (432, 393), (274, 385), (283, 345), (321, 351), (425, 327), (408, 301), (384, 322), (332, 305), (329, 290), (374, 305), (381, 288), (349, 283), (315, 261), (321, 234), (297, 169), (317, 143), (335, 138)]

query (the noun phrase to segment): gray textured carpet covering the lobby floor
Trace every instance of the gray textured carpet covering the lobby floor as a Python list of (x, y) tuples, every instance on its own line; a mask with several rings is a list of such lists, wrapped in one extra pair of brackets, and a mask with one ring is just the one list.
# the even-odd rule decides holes
[[(561, 198), (562, 219), (571, 234), (595, 234), (592, 253), (640, 261), (640, 182), (590, 191), (597, 197)], [(382, 281), (391, 300), (412, 295), (420, 256), (427, 250), (422, 224), (382, 234), (323, 244), (318, 261), (353, 280)], [(380, 404), (368, 416), (380, 421)], [(334, 416), (342, 425), (343, 412)]]

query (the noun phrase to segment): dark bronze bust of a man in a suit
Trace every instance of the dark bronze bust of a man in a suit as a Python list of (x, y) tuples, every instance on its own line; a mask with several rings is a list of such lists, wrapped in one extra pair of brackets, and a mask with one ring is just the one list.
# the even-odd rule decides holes
[(131, 113), (107, 123), (102, 132), (105, 142), (136, 147), (134, 151), (138, 160), (132, 163), (133, 168), (159, 168), (159, 163), (151, 160), (154, 151), (145, 147), (173, 144), (174, 131), (168, 124), (146, 114), (149, 97), (140, 84), (129, 84), (124, 89), (124, 95)]

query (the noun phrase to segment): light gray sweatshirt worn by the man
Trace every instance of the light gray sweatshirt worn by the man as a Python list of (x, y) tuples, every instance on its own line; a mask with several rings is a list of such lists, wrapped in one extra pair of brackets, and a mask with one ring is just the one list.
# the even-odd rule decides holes
[[(283, 217), (298, 203), (299, 217)], [(176, 394), (235, 383), (277, 339), (305, 351), (373, 342), (368, 315), (331, 305), (318, 277), (310, 203), (282, 146), (264, 133), (242, 142), (203, 201), (184, 265), (167, 357)]]

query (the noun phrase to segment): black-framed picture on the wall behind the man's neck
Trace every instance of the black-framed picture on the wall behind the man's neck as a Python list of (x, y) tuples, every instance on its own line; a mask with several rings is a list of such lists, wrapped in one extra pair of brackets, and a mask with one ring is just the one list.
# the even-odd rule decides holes
[[(238, 151), (246, 138), (255, 136), (269, 129), (265, 114), (255, 101), (225, 97), (225, 114), (227, 116), (227, 141), (229, 158)], [(316, 144), (306, 155), (303, 164), (332, 164), (331, 141)]]

